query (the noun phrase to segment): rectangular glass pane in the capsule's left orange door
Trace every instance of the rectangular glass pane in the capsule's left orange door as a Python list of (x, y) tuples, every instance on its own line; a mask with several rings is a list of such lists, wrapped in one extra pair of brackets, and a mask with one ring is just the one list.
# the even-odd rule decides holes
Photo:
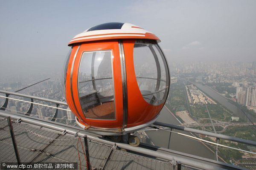
[(78, 92), (87, 119), (115, 120), (111, 51), (84, 52), (78, 74)]

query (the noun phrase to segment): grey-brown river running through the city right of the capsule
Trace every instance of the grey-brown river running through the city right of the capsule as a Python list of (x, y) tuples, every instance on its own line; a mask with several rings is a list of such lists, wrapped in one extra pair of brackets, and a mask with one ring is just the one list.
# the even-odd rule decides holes
[[(199, 81), (200, 82), (200, 81)], [(240, 119), (245, 120), (246, 122), (250, 122), (247, 117), (244, 115), (244, 113), (241, 112), (241, 110), (236, 106), (230, 103), (224, 96), (218, 94), (216, 91), (212, 90), (211, 88), (198, 83), (198, 82), (191, 82), (198, 88), (200, 88), (203, 92), (205, 92), (207, 95), (209, 95), (212, 99), (215, 99), (217, 102), (219, 102), (221, 105), (225, 106), (227, 109), (232, 111), (236, 114), (236, 116), (239, 116)], [(255, 116), (252, 116), (250, 114), (247, 114), (247, 116), (253, 121), (256, 122)], [(163, 107), (158, 122), (163, 123), (169, 123), (172, 125), (180, 125), (180, 123), (175, 119), (174, 116), (172, 116), (169, 111)], [(190, 133), (175, 130), (176, 132), (185, 133), (188, 135), (191, 135)], [(196, 156), (201, 156), (204, 158), (209, 159), (215, 159), (214, 153), (212, 153), (211, 150), (209, 150), (204, 144), (201, 142), (197, 142), (193, 139), (186, 138), (184, 136), (180, 136), (178, 134), (172, 133), (171, 134), (171, 140), (170, 145), (168, 146), (170, 133), (164, 130), (158, 130), (158, 131), (146, 131), (148, 134), (148, 137), (151, 139), (151, 141), (159, 147), (165, 147), (172, 150), (177, 150), (184, 153), (189, 153)]]

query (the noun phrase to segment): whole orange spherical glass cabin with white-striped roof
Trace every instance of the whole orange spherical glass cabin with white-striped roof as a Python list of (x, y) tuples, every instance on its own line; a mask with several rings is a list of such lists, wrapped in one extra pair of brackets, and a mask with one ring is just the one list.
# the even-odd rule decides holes
[(160, 42), (130, 23), (105, 23), (76, 35), (64, 70), (65, 95), (79, 126), (105, 135), (154, 123), (169, 92)]

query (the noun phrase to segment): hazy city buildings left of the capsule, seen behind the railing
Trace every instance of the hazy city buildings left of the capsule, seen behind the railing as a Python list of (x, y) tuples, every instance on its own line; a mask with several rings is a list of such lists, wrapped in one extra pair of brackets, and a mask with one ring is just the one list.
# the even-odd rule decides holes
[[(19, 93), (38, 96), (46, 99), (63, 101), (64, 94), (63, 94), (63, 87), (61, 85), (61, 75), (53, 75), (50, 77), (51, 79), (48, 79), (37, 85), (33, 85), (29, 88), (26, 88), (20, 91)], [(26, 81), (23, 81), (24, 79)], [(0, 82), (0, 89), (8, 90), (8, 91), (17, 91), (20, 88), (24, 88), (28, 85), (35, 83), (36, 81), (40, 81), (43, 79), (46, 79), (45, 75), (29, 75), (29, 77), (16, 77), (16, 82), (12, 82), (11, 80), (6, 79), (6, 82), (5, 81)], [(26, 100), (30, 102), (30, 99), (27, 99), (27, 98), (23, 98), (19, 96), (10, 96), (10, 97), (15, 99), (20, 99), (20, 100)], [(3, 105), (4, 101), (5, 101), (4, 98), (0, 98), (0, 105)], [(40, 101), (40, 100), (34, 100), (34, 102), (56, 107), (55, 104)], [(9, 99), (6, 111), (10, 111), (12, 113), (26, 113), (29, 110), (29, 107), (30, 107), (30, 103)], [(67, 109), (67, 106), (62, 106), (62, 108)], [(54, 112), (55, 112), (54, 108), (49, 108), (46, 106), (34, 104), (31, 116), (35, 116), (41, 119), (48, 119), (47, 117), (51, 118)], [(58, 120), (64, 119), (65, 123), (70, 123), (70, 124), (71, 122), (75, 122), (74, 120), (75, 116), (71, 111), (58, 110), (57, 119)], [(58, 120), (56, 121), (58, 122)]]

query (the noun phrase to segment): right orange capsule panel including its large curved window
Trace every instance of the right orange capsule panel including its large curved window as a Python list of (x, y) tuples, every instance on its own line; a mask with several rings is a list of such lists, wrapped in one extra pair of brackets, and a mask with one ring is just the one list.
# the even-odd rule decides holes
[(169, 69), (153, 40), (123, 40), (127, 72), (127, 127), (156, 119), (169, 92)]

